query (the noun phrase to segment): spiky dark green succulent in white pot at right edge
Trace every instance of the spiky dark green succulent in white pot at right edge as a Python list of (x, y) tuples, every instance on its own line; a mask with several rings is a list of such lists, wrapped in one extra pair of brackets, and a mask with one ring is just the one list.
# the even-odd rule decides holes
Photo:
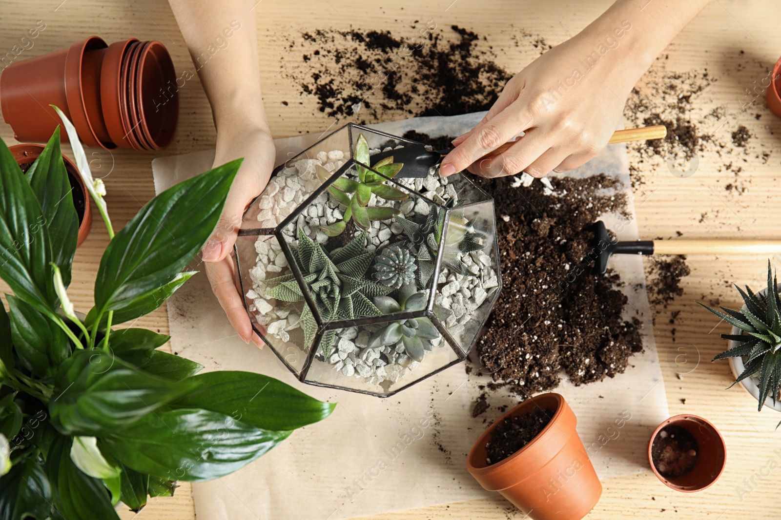
[(768, 288), (764, 295), (751, 292), (748, 286), (745, 292), (737, 285), (735, 287), (746, 304), (745, 309), (731, 310), (721, 307), (724, 311), (722, 313), (703, 303), (700, 305), (744, 332), (744, 334), (722, 334), (722, 338), (738, 341), (740, 345), (722, 352), (713, 360), (737, 356), (747, 358), (745, 370), (733, 384), (759, 372), (758, 409), (761, 410), (767, 395), (772, 394), (775, 402), (781, 388), (781, 295), (770, 262), (768, 262)]

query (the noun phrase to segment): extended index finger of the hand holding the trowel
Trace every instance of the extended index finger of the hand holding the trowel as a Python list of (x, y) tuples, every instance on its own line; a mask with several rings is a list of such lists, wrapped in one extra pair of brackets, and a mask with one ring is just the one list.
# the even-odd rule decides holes
[(444, 177), (461, 172), (469, 164), (485, 157), (502, 144), (512, 140), (531, 125), (532, 118), (518, 101), (513, 102), (494, 118), (478, 126), (442, 160), (440, 174)]

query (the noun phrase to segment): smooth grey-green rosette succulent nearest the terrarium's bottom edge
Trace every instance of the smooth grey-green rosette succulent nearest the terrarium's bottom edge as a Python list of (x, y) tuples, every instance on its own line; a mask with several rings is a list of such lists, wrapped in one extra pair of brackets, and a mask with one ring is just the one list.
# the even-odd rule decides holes
[[(409, 293), (412, 292), (412, 295)], [(401, 313), (405, 310), (423, 310), (426, 308), (426, 292), (415, 292), (414, 285), (405, 285), (399, 291), (399, 301), (391, 296), (376, 296), (374, 302), (383, 314)], [(415, 361), (423, 361), (426, 351), (433, 348), (431, 340), (439, 338), (437, 327), (426, 317), (409, 318), (408, 320), (394, 321), (386, 327), (376, 331), (369, 338), (369, 347), (380, 348), (383, 346), (404, 345), (407, 356)]]

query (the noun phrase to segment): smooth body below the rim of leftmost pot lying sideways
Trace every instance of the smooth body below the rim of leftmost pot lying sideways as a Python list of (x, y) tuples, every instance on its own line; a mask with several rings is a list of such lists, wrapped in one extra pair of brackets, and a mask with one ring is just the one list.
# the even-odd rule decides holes
[(45, 143), (60, 123), (50, 104), (72, 119), (65, 89), (68, 49), (13, 62), (0, 75), (2, 115), (20, 141)]

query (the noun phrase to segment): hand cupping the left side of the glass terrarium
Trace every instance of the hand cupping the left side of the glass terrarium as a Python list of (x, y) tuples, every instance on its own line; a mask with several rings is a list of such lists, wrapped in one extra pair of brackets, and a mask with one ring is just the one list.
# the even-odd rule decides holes
[(244, 161), (230, 187), (219, 223), (201, 252), (212, 291), (230, 324), (245, 343), (252, 341), (259, 347), (263, 342), (252, 330), (244, 310), (244, 295), (239, 292), (233, 248), (244, 210), (266, 188), (275, 156), (273, 140), (265, 129), (250, 126), (218, 133), (214, 165), (225, 164), (237, 157), (244, 157)]

